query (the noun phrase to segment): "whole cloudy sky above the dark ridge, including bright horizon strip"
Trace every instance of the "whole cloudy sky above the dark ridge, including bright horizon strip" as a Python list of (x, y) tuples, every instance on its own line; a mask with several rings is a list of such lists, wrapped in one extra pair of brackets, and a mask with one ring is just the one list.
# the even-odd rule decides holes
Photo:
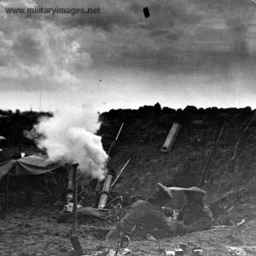
[(0, 0), (1, 109), (256, 108), (255, 68), (252, 0)]

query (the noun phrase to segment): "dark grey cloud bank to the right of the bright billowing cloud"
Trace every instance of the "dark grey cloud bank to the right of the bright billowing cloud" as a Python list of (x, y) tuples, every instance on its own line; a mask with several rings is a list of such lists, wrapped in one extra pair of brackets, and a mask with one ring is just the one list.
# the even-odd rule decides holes
[[(148, 19), (143, 17), (145, 4), (150, 12)], [(231, 20), (231, 16), (240, 14), (241, 3), (230, 7), (231, 15), (224, 9), (225, 4), (222, 9), (220, 2), (216, 5), (212, 8), (209, 1), (132, 2), (126, 6), (131, 23), (108, 30), (108, 42), (97, 42), (90, 54), (101, 66), (105, 63), (168, 73), (226, 73), (238, 51), (240, 55), (249, 51), (248, 38), (242, 38), (237, 20)], [(244, 26), (239, 26), (246, 31), (253, 21), (251, 15), (245, 11), (243, 14), (247, 23), (241, 21)]]

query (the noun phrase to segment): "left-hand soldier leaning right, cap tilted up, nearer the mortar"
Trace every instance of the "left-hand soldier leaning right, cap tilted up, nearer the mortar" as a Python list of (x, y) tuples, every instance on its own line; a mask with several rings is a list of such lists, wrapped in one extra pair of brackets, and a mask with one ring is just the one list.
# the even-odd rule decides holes
[[(147, 235), (155, 236), (156, 232), (160, 237), (176, 236), (177, 220), (169, 220), (161, 212), (161, 207), (172, 200), (172, 192), (161, 183), (157, 184), (157, 191), (148, 201), (138, 200), (132, 206), (120, 224), (108, 232), (108, 239), (122, 236), (145, 238)], [(175, 214), (174, 214), (175, 215)]]

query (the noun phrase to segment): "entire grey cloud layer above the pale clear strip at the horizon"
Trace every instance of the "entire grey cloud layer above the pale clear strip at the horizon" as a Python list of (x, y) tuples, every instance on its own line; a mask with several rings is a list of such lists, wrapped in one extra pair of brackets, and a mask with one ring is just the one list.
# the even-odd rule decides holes
[[(86, 75), (91, 70), (96, 73), (107, 67), (136, 68), (148, 73), (205, 73), (209, 79), (230, 78), (234, 61), (240, 69), (241, 65), (248, 67), (253, 63), (256, 20), (255, 4), (251, 2), (2, 2), (0, 4), (9, 6), (20, 4), (19, 7), (33, 4), (48, 8), (100, 7), (101, 12), (1, 16), (3, 73), (0, 78), (12, 79), (10, 73), (13, 72), (15, 79), (20, 73), (24, 88), (26, 84), (38, 82), (47, 90), (76, 88), (87, 81)], [(146, 6), (150, 12), (148, 19), (143, 15)], [(80, 45), (76, 51), (72, 49), (73, 42)], [(36, 83), (35, 89), (37, 86)]]

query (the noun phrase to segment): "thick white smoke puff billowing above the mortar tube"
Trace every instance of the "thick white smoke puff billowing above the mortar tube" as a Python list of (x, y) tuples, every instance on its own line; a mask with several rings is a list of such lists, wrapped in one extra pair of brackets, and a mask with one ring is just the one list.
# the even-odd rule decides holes
[(98, 115), (85, 109), (69, 108), (56, 111), (54, 117), (43, 118), (34, 126), (38, 148), (46, 149), (49, 160), (79, 163), (82, 173), (103, 179), (108, 154), (102, 148), (101, 137), (94, 132), (99, 128)]

